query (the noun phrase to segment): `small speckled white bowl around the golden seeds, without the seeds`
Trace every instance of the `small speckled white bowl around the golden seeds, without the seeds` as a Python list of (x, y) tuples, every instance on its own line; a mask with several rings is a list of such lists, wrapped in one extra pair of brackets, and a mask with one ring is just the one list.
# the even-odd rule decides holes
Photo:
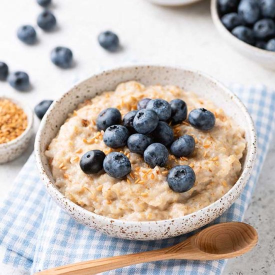
[(29, 140), (32, 135), (33, 113), (28, 106), (26, 106), (20, 101), (17, 101), (14, 98), (6, 97), (6, 96), (0, 96), (0, 98), (5, 98), (15, 103), (16, 105), (18, 105), (23, 109), (23, 111), (27, 116), (26, 129), (16, 138), (6, 143), (0, 144), (0, 163), (4, 163), (16, 158), (17, 156), (22, 154), (23, 151), (27, 148), (29, 144)]

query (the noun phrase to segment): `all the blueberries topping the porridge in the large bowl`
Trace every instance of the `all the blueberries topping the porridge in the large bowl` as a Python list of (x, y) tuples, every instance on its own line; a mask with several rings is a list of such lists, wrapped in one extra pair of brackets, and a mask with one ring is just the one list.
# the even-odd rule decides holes
[[(121, 120), (116, 108), (102, 110), (96, 119), (98, 131), (103, 130), (103, 142), (110, 148), (127, 146), (133, 153), (143, 155), (151, 167), (164, 167), (169, 150), (176, 157), (189, 156), (195, 148), (194, 138), (184, 134), (174, 140), (169, 124), (178, 124), (187, 118), (187, 106), (181, 99), (167, 102), (163, 99), (143, 98), (137, 104), (138, 110), (127, 112)], [(190, 125), (200, 130), (210, 130), (215, 124), (215, 116), (204, 108), (189, 112)], [(79, 162), (86, 174), (98, 173), (102, 169), (110, 176), (122, 178), (131, 171), (131, 163), (121, 152), (107, 155), (100, 150), (91, 150), (82, 155)], [(167, 175), (169, 187), (175, 192), (189, 190), (195, 182), (195, 173), (188, 165), (177, 165)]]

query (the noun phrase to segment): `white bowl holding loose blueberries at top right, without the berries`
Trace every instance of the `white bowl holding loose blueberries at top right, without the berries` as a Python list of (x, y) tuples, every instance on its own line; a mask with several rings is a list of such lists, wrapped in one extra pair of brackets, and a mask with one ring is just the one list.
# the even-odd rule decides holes
[(217, 0), (211, 0), (211, 15), (219, 33), (235, 50), (263, 67), (275, 69), (275, 51), (257, 48), (241, 41), (222, 24), (217, 11)]

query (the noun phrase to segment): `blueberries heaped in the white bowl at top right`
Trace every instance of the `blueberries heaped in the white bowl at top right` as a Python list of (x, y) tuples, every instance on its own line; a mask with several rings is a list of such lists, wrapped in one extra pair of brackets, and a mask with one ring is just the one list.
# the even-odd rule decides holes
[(222, 24), (238, 39), (275, 51), (275, 0), (218, 0)]

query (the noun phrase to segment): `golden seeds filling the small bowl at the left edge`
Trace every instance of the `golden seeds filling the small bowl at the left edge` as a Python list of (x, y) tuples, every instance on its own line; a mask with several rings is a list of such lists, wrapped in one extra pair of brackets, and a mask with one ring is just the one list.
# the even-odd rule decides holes
[(0, 99), (0, 144), (15, 139), (27, 127), (24, 111), (8, 99)]

